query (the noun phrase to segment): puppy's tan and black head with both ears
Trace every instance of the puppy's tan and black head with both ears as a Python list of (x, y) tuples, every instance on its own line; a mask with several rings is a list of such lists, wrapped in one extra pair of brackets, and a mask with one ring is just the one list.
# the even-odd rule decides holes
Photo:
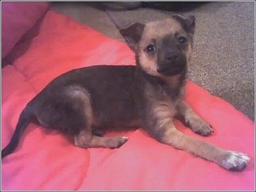
[(137, 64), (146, 73), (158, 77), (186, 71), (194, 31), (195, 17), (182, 15), (120, 29), (127, 45), (136, 54)]

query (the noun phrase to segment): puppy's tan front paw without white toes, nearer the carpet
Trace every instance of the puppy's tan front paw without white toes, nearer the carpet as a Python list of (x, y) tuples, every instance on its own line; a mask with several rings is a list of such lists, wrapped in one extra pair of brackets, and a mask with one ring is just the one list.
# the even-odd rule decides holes
[(211, 135), (213, 133), (212, 126), (200, 118), (189, 119), (188, 126), (198, 135)]

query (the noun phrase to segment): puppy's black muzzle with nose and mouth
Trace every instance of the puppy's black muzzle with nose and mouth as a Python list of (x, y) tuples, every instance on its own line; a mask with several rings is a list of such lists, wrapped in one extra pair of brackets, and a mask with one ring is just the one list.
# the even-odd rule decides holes
[(186, 56), (178, 52), (167, 52), (157, 59), (157, 73), (162, 75), (177, 75), (186, 69)]

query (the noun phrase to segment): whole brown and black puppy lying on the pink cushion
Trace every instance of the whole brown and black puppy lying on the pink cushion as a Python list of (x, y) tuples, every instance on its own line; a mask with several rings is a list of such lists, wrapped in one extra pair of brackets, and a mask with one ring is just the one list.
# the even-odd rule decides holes
[(2, 158), (15, 150), (36, 118), (46, 128), (72, 136), (79, 147), (120, 147), (128, 138), (102, 137), (98, 128), (142, 127), (159, 142), (228, 170), (243, 170), (250, 160), (245, 154), (188, 137), (173, 125), (173, 117), (180, 115), (195, 133), (212, 133), (182, 98), (194, 31), (195, 18), (182, 15), (121, 29), (136, 66), (92, 66), (52, 80), (20, 114)]

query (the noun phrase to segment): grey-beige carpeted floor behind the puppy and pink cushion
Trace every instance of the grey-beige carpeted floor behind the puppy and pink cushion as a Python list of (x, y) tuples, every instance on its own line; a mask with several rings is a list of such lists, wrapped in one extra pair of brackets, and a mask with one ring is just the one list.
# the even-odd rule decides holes
[(120, 41), (124, 40), (117, 27), (159, 20), (172, 13), (195, 14), (189, 79), (255, 121), (254, 1), (209, 2), (179, 12), (152, 8), (113, 10), (102, 8), (99, 2), (55, 2), (51, 8)]

